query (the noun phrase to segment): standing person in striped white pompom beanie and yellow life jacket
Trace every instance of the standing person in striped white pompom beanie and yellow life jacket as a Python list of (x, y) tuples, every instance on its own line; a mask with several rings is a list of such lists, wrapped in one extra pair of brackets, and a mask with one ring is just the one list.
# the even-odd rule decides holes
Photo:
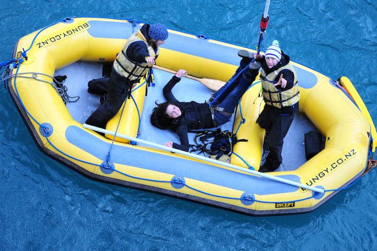
[(253, 57), (261, 63), (260, 78), (265, 106), (257, 123), (266, 129), (264, 144), (267, 144), (269, 153), (259, 172), (272, 172), (282, 162), (283, 139), (299, 110), (297, 74), (290, 57), (280, 50), (276, 40), (267, 48), (264, 56), (246, 50), (239, 54)]

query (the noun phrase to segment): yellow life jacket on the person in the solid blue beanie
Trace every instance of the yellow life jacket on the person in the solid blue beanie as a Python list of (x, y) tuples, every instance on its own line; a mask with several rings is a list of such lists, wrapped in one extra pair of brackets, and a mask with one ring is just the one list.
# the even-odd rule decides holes
[(149, 56), (157, 58), (159, 48), (157, 48), (157, 53), (154, 52), (152, 46), (147, 42), (147, 39), (141, 33), (140, 30), (132, 34), (124, 45), (122, 51), (118, 53), (117, 58), (114, 61), (113, 67), (118, 72), (118, 74), (128, 78), (131, 83), (137, 83), (140, 79), (145, 76), (148, 68), (152, 67), (152, 64), (147, 62), (135, 62), (127, 57), (126, 51), (128, 46), (135, 41), (143, 41), (148, 48)]

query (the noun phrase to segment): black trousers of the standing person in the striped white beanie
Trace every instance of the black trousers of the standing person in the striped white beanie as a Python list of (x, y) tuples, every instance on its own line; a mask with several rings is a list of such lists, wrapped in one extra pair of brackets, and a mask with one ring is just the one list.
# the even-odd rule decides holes
[(294, 117), (295, 113), (281, 115), (267, 105), (260, 114), (257, 122), (260, 127), (266, 129), (265, 142), (269, 148), (269, 153), (264, 163), (266, 170), (274, 171), (281, 164), (283, 139), (287, 135)]

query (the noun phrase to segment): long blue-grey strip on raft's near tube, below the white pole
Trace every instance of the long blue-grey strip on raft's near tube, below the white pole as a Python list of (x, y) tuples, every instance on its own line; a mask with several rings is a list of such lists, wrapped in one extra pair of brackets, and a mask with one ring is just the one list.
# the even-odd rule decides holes
[[(77, 126), (69, 126), (65, 131), (65, 136), (69, 143), (101, 159), (105, 159), (111, 145)], [(193, 179), (260, 195), (290, 193), (298, 190), (295, 186), (263, 177), (245, 175), (185, 158), (148, 152), (133, 147), (113, 145), (111, 160), (114, 163), (184, 177), (186, 182), (187, 179)], [(300, 182), (300, 178), (295, 175), (278, 177)]]

